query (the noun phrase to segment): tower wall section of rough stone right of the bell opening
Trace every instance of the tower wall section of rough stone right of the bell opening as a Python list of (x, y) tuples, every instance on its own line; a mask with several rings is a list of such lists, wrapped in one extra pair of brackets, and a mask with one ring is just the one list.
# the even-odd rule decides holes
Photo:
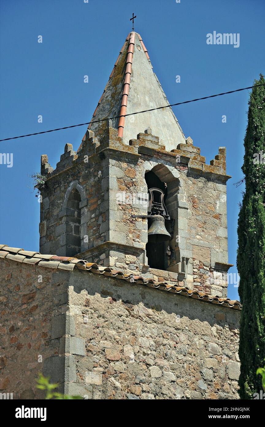
[[(193, 289), (227, 296), (228, 234), (226, 185), (217, 179), (187, 176), (187, 222), (192, 246)], [(217, 265), (216, 265), (217, 263)], [(197, 270), (197, 271), (196, 271)]]

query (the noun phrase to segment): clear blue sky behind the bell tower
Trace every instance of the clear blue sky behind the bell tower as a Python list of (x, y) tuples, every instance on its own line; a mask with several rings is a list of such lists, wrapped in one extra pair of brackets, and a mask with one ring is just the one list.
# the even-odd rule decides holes
[[(0, 139), (88, 122), (131, 30), (132, 12), (170, 103), (251, 86), (265, 73), (263, 0), (1, 0)], [(208, 45), (206, 35), (214, 31), (239, 33), (239, 47)], [(219, 146), (227, 147), (233, 264), (243, 190), (233, 183), (242, 178), (247, 110), (248, 91), (173, 107), (207, 163)], [(40, 114), (43, 123), (37, 122)], [(40, 171), (41, 154), (55, 167), (65, 144), (78, 149), (85, 131), (83, 126), (0, 143), (1, 153), (13, 153), (13, 167), (0, 164), (1, 243), (39, 249), (40, 206), (28, 175)], [(228, 296), (238, 298), (233, 285)]]

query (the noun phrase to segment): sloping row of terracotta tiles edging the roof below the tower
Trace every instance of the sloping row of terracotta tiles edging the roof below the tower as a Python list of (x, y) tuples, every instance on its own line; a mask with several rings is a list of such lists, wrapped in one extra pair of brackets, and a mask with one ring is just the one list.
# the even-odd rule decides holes
[[(133, 274), (124, 274), (122, 271), (114, 270), (110, 267), (98, 266), (95, 263), (88, 263), (86, 260), (79, 260), (78, 258), (72, 257), (58, 257), (57, 255), (43, 255), (36, 252), (24, 251), (23, 249), (10, 248), (7, 245), (0, 245), (0, 258), (8, 258), (13, 261), (37, 264), (42, 267), (58, 268), (63, 270), (73, 270), (75, 268), (91, 272), (93, 274), (100, 274), (107, 277), (118, 278), (133, 284), (144, 285), (153, 289), (163, 290), (174, 294), (189, 296), (191, 298), (199, 299), (201, 301), (207, 301), (212, 304), (223, 305), (224, 307), (230, 307), (236, 310), (241, 309), (241, 304), (237, 300), (230, 300), (229, 298), (220, 298), (217, 295), (208, 295), (197, 290), (192, 290), (186, 287), (176, 286), (170, 282), (155, 282), (153, 279), (143, 278)], [(17, 252), (23, 253), (17, 254)], [(27, 255), (29, 254), (29, 255)], [(35, 254), (31, 256), (30, 254)]]

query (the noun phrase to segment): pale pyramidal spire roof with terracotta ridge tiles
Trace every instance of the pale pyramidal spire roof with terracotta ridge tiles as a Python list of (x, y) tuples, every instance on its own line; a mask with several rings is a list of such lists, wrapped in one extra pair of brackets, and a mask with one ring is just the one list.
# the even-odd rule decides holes
[[(122, 116), (112, 120), (112, 127), (118, 129), (123, 143), (136, 138), (147, 127), (167, 151), (176, 149), (179, 143), (186, 143), (179, 122), (171, 107), (124, 117), (125, 114), (169, 105), (166, 95), (153, 72), (153, 67), (142, 41), (136, 32), (130, 32), (115, 62), (109, 81), (104, 89), (92, 117), (99, 120), (106, 117)], [(107, 121), (91, 123), (89, 129), (100, 138)]]

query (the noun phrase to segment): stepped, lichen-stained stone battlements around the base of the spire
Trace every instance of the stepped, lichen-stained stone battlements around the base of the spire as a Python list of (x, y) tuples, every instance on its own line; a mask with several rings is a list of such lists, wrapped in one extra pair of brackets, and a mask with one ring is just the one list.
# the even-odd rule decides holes
[[(111, 124), (111, 123), (110, 123)], [(179, 143), (176, 149), (169, 151), (165, 150), (165, 146), (160, 145), (159, 137), (152, 134), (152, 130), (147, 128), (143, 133), (138, 133), (136, 139), (131, 139), (129, 145), (124, 144), (121, 137), (118, 137), (118, 130), (108, 127), (101, 136), (101, 143), (95, 137), (94, 132), (89, 129), (82, 140), (82, 145), (78, 152), (72, 149), (72, 144), (67, 143), (64, 153), (60, 157), (55, 170), (48, 163), (48, 156), (41, 156), (41, 173), (47, 175), (48, 178), (62, 173), (77, 164), (83, 162), (88, 163), (93, 161), (95, 155), (98, 155), (105, 149), (115, 149), (131, 155), (150, 155), (155, 153), (160, 157), (171, 158), (176, 157), (176, 163), (187, 164), (188, 170), (197, 175), (216, 175), (216, 178), (227, 181), (230, 175), (226, 175), (226, 149), (219, 147), (219, 152), (210, 164), (205, 163), (205, 156), (200, 154), (201, 149), (193, 145), (191, 137), (186, 139), (186, 143)]]

